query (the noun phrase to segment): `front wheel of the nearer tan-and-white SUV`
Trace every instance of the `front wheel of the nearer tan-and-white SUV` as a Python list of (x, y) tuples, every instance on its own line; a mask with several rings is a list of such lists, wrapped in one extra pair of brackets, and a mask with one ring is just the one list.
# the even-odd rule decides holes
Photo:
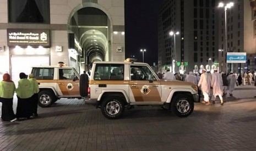
[(175, 95), (171, 102), (171, 110), (177, 117), (188, 117), (194, 110), (194, 102), (188, 95)]

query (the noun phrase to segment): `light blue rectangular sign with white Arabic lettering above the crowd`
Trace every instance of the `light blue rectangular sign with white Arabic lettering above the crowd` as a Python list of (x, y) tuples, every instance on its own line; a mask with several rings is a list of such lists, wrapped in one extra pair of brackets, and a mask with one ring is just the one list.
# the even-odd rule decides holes
[(246, 53), (227, 53), (227, 63), (246, 63)]

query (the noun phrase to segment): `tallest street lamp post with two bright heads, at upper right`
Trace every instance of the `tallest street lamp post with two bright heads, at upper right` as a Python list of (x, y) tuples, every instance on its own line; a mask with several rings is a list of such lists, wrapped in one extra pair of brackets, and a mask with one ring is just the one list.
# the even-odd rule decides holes
[[(230, 2), (227, 3), (226, 5), (224, 3), (219, 3), (218, 7), (224, 7), (225, 10), (225, 52), (227, 54), (227, 9), (230, 9), (231, 7), (233, 7), (234, 3)], [(226, 71), (227, 71), (227, 62), (225, 61), (225, 67), (226, 67)], [(230, 69), (231, 70), (231, 69)]]

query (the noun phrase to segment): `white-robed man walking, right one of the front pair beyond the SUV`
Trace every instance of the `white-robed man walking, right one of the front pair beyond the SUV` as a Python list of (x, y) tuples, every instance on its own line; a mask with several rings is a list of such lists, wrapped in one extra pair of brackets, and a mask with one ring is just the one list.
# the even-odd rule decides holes
[(223, 94), (222, 85), (223, 85), (223, 82), (222, 82), (221, 74), (218, 73), (217, 69), (214, 69), (214, 73), (211, 75), (211, 87), (213, 88), (213, 95), (212, 95), (211, 101), (213, 101), (213, 103), (215, 103), (216, 96), (219, 96), (221, 105), (224, 104), (223, 98), (222, 98), (222, 94)]

